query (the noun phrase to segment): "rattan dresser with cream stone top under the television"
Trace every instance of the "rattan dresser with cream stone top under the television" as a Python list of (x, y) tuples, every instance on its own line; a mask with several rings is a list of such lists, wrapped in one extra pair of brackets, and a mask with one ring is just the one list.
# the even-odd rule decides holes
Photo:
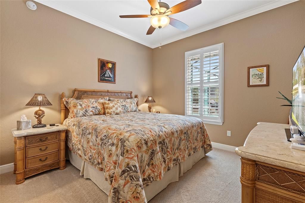
[(286, 124), (257, 123), (244, 146), (235, 149), (241, 158), (242, 203), (305, 202), (305, 151), (291, 149)]

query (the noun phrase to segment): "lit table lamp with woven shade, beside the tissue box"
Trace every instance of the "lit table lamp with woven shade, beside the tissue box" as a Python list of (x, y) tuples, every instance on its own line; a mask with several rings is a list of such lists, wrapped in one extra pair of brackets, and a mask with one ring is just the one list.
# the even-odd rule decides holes
[(45, 111), (40, 109), (40, 106), (52, 106), (51, 102), (47, 99), (45, 94), (34, 94), (26, 106), (39, 106), (39, 109), (34, 112), (34, 117), (37, 119), (37, 124), (33, 128), (43, 128), (46, 124), (41, 123), (42, 118), (45, 116)]

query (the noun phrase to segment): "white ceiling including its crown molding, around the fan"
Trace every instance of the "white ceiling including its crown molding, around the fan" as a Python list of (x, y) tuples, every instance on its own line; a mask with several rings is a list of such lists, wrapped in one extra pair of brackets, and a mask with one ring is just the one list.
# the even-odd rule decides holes
[[(170, 7), (182, 2), (164, 0)], [(170, 15), (170, 17), (186, 23), (186, 31), (178, 30), (170, 25), (162, 29), (162, 43), (167, 44), (191, 35), (240, 20), (260, 12), (286, 5), (296, 0), (224, 0), (202, 1), (192, 9)], [(150, 5), (146, 0), (138, 1), (74, 1), (36, 0), (41, 4), (59, 10), (98, 27), (104, 28), (123, 37), (139, 42), (151, 48), (159, 46), (159, 30), (146, 35), (150, 26), (150, 18), (125, 18), (119, 15), (150, 15)], [(39, 6), (38, 8), (39, 9)]]

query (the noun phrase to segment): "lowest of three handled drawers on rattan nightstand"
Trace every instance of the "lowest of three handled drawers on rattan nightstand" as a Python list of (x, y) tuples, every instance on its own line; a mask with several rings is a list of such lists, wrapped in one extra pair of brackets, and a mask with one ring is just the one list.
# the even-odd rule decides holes
[(50, 162), (59, 160), (58, 151), (54, 151), (41, 156), (34, 156), (26, 159), (26, 168), (32, 168), (35, 166), (41, 166)]

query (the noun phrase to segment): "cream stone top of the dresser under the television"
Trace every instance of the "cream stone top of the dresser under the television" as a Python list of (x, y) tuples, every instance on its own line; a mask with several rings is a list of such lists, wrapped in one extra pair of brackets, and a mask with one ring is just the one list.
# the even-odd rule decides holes
[(241, 157), (305, 172), (305, 151), (291, 149), (287, 141), (287, 124), (257, 123), (244, 146), (235, 149)]

